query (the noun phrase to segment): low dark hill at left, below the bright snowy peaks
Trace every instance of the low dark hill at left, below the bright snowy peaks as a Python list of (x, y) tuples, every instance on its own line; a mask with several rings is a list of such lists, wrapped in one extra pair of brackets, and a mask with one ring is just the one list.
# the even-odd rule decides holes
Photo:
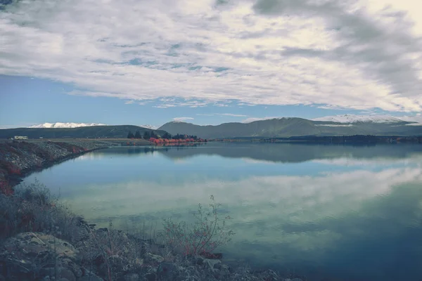
[(140, 126), (83, 126), (77, 128), (16, 128), (0, 129), (0, 138), (13, 138), (13, 136), (27, 136), (28, 138), (127, 138), (127, 133), (132, 131), (154, 131), (162, 136), (165, 131), (152, 130)]

